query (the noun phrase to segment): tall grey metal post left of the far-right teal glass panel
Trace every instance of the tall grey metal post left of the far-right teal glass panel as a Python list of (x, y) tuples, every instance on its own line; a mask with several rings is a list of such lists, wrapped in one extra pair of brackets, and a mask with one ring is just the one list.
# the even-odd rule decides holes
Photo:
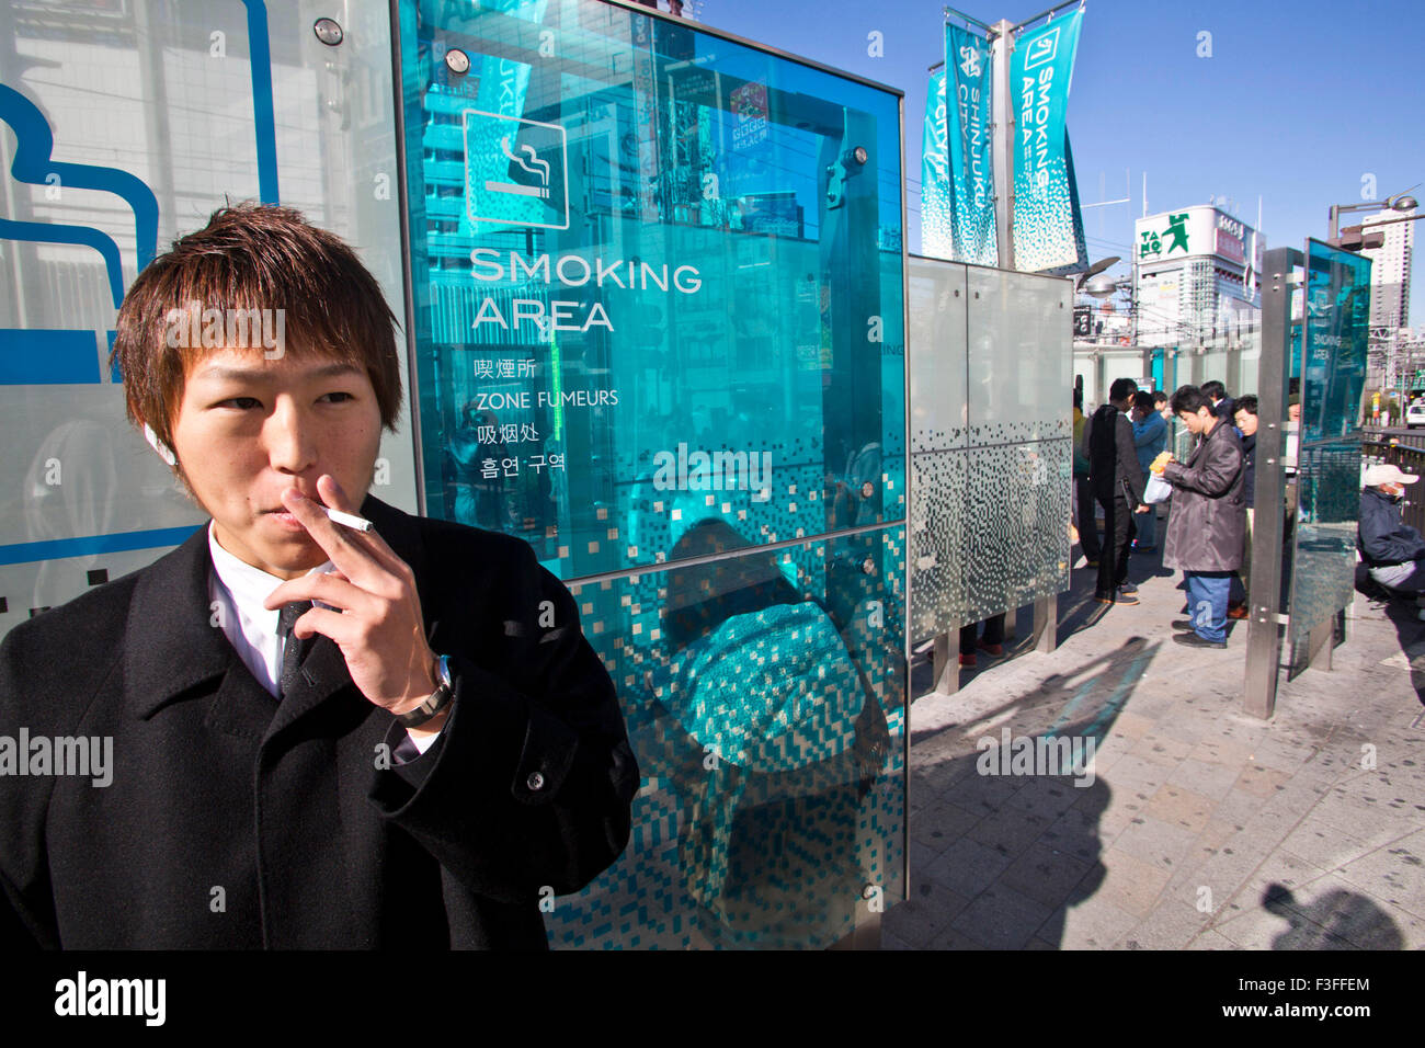
[(1257, 488), (1251, 535), (1251, 606), (1247, 622), (1247, 673), (1243, 706), (1265, 720), (1277, 704), (1281, 659), (1281, 550), (1287, 448), (1287, 382), (1291, 375), (1291, 272), (1301, 262), (1295, 248), (1264, 257), (1261, 288), (1261, 359), (1257, 398)]

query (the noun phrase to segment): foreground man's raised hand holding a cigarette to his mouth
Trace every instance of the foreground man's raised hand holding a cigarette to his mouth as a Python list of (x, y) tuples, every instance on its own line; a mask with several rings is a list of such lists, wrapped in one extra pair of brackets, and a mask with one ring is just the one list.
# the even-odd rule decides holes
[[(358, 512), (331, 475), (318, 478), (316, 490), (331, 509)], [(436, 654), (426, 643), (410, 566), (375, 530), (356, 532), (333, 523), (296, 488), (282, 492), (282, 505), (326, 550), (336, 570), (288, 579), (264, 606), (274, 609), (292, 600), (329, 605), (306, 612), (292, 632), (301, 639), (316, 633), (331, 637), (346, 659), (352, 683), (376, 706), (395, 714), (416, 709), (436, 690)]]

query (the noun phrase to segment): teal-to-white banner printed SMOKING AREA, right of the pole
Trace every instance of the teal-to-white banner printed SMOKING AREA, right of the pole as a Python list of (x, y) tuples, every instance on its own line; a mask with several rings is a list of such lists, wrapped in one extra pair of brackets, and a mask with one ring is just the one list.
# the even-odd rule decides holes
[(1025, 33), (1009, 60), (1016, 269), (1087, 265), (1064, 125), (1082, 21), (1080, 9)]

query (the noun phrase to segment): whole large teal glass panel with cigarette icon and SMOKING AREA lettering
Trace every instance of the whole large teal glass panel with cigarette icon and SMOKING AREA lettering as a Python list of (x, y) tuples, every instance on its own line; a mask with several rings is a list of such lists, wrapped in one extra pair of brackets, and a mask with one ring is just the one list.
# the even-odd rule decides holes
[(551, 942), (831, 945), (905, 895), (901, 100), (593, 0), (400, 14), (426, 512), (569, 582), (644, 773)]

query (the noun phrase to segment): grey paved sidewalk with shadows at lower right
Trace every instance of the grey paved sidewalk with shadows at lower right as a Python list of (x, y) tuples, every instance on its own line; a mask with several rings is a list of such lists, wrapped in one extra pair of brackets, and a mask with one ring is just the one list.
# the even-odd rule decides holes
[[(1282, 673), (1261, 721), (1245, 622), (1226, 652), (1174, 644), (1186, 595), (1157, 562), (1133, 558), (1141, 605), (1106, 607), (1077, 558), (1059, 649), (980, 653), (955, 696), (916, 660), (911, 898), (884, 948), (1425, 947), (1425, 623), (1357, 596), (1334, 670)], [(1092, 783), (979, 774), (1005, 729), (1097, 739)]]

